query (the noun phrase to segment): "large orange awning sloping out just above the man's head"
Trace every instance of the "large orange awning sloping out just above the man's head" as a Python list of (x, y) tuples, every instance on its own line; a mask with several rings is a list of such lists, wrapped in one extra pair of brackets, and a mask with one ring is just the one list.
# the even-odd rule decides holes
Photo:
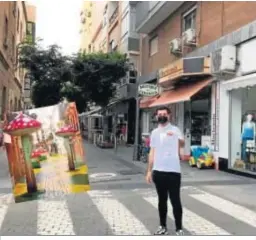
[(150, 107), (157, 107), (162, 105), (168, 105), (171, 103), (189, 101), (193, 95), (206, 87), (211, 81), (212, 78), (208, 78), (207, 80), (187, 84), (177, 89), (163, 92), (157, 100), (150, 104)]

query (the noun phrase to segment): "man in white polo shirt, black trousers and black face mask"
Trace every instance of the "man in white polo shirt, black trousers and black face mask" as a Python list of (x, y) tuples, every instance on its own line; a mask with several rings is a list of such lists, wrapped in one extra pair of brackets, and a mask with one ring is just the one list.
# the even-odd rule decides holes
[(166, 226), (168, 195), (173, 208), (176, 234), (184, 235), (180, 200), (180, 148), (184, 145), (184, 138), (179, 128), (170, 123), (170, 114), (170, 109), (167, 107), (160, 107), (157, 110), (159, 125), (152, 131), (150, 140), (146, 181), (154, 182), (158, 195), (160, 226), (155, 235), (168, 234)]

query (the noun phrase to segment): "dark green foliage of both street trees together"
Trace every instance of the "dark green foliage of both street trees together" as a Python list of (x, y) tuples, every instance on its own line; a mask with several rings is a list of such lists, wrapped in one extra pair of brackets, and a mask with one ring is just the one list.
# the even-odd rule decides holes
[(29, 72), (36, 107), (56, 104), (63, 97), (75, 101), (79, 112), (90, 102), (104, 107), (127, 70), (126, 56), (118, 52), (64, 56), (57, 45), (44, 49), (39, 41), (27, 41), (19, 53), (21, 66)]

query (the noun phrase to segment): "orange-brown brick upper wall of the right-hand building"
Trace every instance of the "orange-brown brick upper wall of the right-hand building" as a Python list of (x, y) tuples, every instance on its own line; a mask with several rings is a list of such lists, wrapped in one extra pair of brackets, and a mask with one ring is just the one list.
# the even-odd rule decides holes
[[(194, 9), (190, 13), (191, 15), (184, 18), (183, 16), (191, 9)], [(148, 31), (138, 29), (139, 32), (144, 34), (141, 44), (141, 74), (148, 75), (180, 57), (170, 54), (169, 42), (175, 38), (181, 38), (184, 29), (182, 24), (185, 25), (186, 19), (189, 19), (188, 17), (191, 16), (193, 19), (192, 25), (195, 27), (197, 37), (196, 48), (200, 48), (254, 21), (255, 9), (255, 2), (184, 2), (175, 10), (173, 15), (167, 16), (162, 23), (159, 22), (155, 29), (146, 29)], [(157, 19), (157, 16), (155, 16), (155, 19)], [(139, 26), (139, 23), (137, 23), (137, 26)], [(158, 39), (157, 50), (154, 54), (151, 54), (150, 44), (156, 42), (156, 36)], [(186, 56), (187, 52), (194, 49), (184, 50), (184, 56)]]

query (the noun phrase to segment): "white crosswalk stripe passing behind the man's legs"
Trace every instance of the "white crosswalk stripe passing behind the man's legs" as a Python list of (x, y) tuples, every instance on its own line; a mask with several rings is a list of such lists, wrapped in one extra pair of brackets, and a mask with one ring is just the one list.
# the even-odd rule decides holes
[[(157, 197), (144, 197), (144, 199), (149, 202), (155, 208), (158, 208)], [(169, 201), (168, 201), (169, 203)], [(172, 209), (170, 203), (168, 206)], [(172, 211), (168, 211), (168, 217), (173, 219)], [(227, 231), (221, 229), (220, 227), (214, 225), (203, 217), (193, 213), (192, 211), (183, 207), (183, 226), (192, 235), (230, 235)]]

